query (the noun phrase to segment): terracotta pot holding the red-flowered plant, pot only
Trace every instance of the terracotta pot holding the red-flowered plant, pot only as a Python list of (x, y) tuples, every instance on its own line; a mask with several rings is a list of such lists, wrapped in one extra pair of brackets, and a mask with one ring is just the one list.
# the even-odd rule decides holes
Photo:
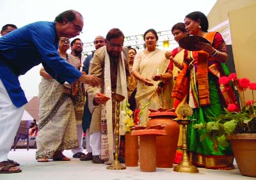
[(228, 135), (237, 167), (244, 176), (256, 177), (256, 133)]

